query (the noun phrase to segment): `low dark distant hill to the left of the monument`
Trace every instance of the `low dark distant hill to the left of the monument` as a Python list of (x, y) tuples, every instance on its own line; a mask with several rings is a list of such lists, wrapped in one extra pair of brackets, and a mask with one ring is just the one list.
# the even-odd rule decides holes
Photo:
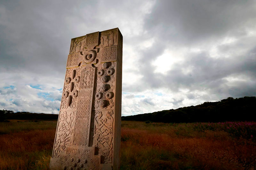
[[(29, 112), (17, 112), (17, 113), (0, 113), (0, 119), (4, 121), (7, 120), (37, 120), (37, 121), (43, 121), (43, 120), (58, 120), (59, 115), (55, 114), (44, 114), (44, 113), (29, 113)], [(1, 120), (0, 120), (1, 121)]]

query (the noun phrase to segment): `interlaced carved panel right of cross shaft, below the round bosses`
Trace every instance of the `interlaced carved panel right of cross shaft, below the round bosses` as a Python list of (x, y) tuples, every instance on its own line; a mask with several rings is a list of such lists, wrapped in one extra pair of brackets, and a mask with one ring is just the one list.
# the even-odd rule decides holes
[(112, 162), (113, 154), (113, 110), (95, 111), (93, 146), (99, 148), (104, 163)]

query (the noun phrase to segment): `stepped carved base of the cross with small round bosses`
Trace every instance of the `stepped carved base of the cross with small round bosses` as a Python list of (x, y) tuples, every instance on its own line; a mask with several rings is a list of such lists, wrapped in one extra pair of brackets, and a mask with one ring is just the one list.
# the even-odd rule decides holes
[(68, 147), (60, 156), (61, 169), (98, 170), (100, 157), (94, 156), (94, 148)]

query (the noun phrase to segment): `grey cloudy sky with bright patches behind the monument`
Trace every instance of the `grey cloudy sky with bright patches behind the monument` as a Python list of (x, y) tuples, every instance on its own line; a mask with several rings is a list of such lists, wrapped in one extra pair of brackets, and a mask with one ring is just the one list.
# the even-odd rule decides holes
[(122, 115), (256, 96), (256, 1), (1, 1), (0, 109), (58, 114), (70, 40), (123, 34)]

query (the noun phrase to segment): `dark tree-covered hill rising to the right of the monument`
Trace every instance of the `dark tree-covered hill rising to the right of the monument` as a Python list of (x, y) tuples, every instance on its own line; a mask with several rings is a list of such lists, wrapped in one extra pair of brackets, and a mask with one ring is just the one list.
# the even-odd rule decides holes
[(151, 122), (225, 122), (256, 121), (256, 97), (228, 97), (217, 102), (204, 102), (201, 105), (180, 107), (133, 116), (122, 116), (126, 121)]

